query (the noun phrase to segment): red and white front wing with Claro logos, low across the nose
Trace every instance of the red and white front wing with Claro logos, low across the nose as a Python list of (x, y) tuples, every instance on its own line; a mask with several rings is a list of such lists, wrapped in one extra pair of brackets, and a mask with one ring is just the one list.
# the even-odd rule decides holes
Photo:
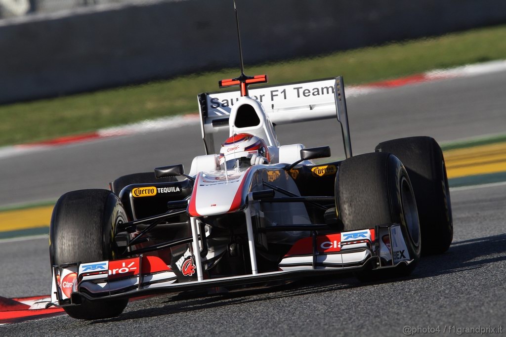
[[(194, 263), (193, 259), (191, 261)], [(278, 271), (266, 273), (204, 279), (203, 275), (198, 275), (202, 268), (190, 264), (185, 271), (196, 273), (199, 277), (193, 281), (178, 282), (171, 267), (153, 256), (67, 263), (53, 266), (50, 305), (78, 305), (82, 299), (131, 298), (153, 293), (357, 271), (370, 267), (392, 268), (412, 261), (400, 225), (391, 224), (369, 230), (312, 235), (301, 239), (282, 258)]]

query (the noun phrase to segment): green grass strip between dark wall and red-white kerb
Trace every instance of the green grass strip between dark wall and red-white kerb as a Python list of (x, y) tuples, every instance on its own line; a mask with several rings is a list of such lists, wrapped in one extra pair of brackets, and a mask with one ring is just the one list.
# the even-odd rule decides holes
[[(506, 59), (506, 25), (308, 59), (245, 66), (269, 84), (343, 75), (359, 84), (495, 59)], [(247, 59), (247, 57), (246, 57)], [(217, 91), (238, 69), (195, 74), (145, 85), (0, 106), (0, 146), (90, 132), (156, 117), (196, 113), (196, 95)]]

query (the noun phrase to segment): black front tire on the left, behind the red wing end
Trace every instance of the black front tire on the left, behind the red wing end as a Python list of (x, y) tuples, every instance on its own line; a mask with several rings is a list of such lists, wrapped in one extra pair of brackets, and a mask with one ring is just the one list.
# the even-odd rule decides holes
[[(115, 226), (126, 221), (123, 206), (111, 191), (90, 189), (63, 194), (51, 217), (51, 265), (114, 259)], [(82, 299), (82, 304), (63, 309), (73, 318), (91, 320), (118, 316), (127, 304), (128, 299)]]

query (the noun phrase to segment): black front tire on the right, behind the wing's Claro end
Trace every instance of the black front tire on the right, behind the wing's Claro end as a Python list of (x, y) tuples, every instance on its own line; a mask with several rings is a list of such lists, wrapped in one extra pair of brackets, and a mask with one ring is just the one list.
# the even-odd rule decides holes
[(390, 153), (366, 153), (344, 160), (335, 181), (336, 208), (344, 231), (400, 224), (413, 261), (398, 268), (356, 273), (360, 280), (409, 275), (420, 258), (421, 236), (413, 189), (401, 161)]

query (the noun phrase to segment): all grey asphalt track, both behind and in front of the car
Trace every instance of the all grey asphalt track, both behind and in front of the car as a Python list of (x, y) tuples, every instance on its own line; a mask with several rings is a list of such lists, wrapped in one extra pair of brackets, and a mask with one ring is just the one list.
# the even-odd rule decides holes
[[(350, 98), (355, 153), (383, 140), (429, 135), (440, 142), (504, 133), (506, 73), (443, 80)], [(283, 144), (339, 149), (330, 121), (279, 127)], [(63, 146), (0, 159), (0, 204), (106, 187), (202, 153), (198, 125)], [(0, 326), (2, 335), (403, 335), (416, 328), (506, 327), (506, 185), (452, 190), (455, 234), (446, 254), (426, 257), (409, 278), (360, 283), (351, 275), (310, 278), (268, 290), (201, 297), (165, 294), (129, 304), (113, 319), (66, 315)], [(437, 235), (435, 231), (434, 235)], [(0, 296), (48, 294), (48, 241), (2, 242)], [(417, 334), (417, 333), (415, 333)], [(448, 333), (447, 333), (448, 334)], [(455, 333), (453, 333), (455, 334)]]

